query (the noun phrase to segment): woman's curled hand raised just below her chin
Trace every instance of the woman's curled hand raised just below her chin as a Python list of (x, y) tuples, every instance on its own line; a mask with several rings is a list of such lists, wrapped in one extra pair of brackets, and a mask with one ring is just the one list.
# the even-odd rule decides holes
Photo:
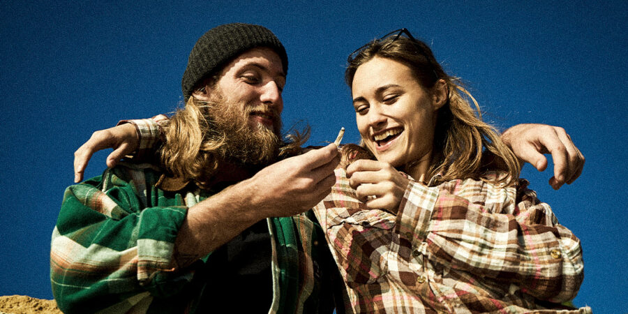
[(385, 209), (393, 214), (397, 214), (405, 188), (410, 184), (410, 179), (388, 163), (366, 159), (349, 165), (347, 178), (367, 207)]

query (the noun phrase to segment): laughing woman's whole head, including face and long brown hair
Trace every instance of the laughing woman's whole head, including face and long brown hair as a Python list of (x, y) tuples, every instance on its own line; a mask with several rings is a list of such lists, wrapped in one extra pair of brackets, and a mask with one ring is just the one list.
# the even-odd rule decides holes
[[(486, 149), (509, 174), (498, 181), (513, 183), (518, 177), (516, 156), (481, 120), (475, 99), (407, 30), (373, 41), (350, 58), (345, 80), (352, 88), (357, 126), (377, 159), (415, 178), (440, 173), (444, 180), (479, 179)], [(412, 132), (403, 132), (406, 128)], [(382, 141), (388, 133), (401, 141)]]

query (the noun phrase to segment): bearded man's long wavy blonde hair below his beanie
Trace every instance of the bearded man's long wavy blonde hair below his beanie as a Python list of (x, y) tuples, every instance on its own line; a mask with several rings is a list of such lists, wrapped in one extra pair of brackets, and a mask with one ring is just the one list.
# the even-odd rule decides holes
[[(216, 105), (221, 104), (190, 96), (185, 107), (177, 110), (163, 126), (163, 146), (159, 150), (161, 164), (170, 174), (191, 179), (200, 188), (208, 188), (222, 163), (230, 158), (230, 151), (225, 149), (227, 133), (216, 126), (211, 117), (212, 106)], [(246, 124), (237, 127), (241, 132), (251, 132)], [(309, 133), (306, 126), (301, 132), (291, 128), (283, 140), (278, 135), (277, 156), (267, 163), (299, 154)]]

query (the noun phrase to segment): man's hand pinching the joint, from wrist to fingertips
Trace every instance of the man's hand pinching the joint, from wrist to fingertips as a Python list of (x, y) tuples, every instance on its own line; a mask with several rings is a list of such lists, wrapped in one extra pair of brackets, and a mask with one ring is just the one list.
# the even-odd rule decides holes
[(250, 179), (258, 191), (251, 195), (252, 202), (258, 204), (267, 217), (307, 211), (331, 192), (338, 163), (338, 147), (332, 143), (269, 165)]

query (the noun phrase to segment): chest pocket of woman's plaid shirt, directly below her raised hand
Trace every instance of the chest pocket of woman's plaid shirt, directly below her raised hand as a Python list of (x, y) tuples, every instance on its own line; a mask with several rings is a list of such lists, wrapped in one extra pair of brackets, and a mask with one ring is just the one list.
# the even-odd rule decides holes
[[(341, 275), (350, 286), (377, 281), (388, 273), (388, 255), (395, 216), (369, 209), (359, 202), (353, 190), (343, 189), (324, 200), (327, 237), (340, 265)], [(337, 197), (342, 195), (342, 197)]]

